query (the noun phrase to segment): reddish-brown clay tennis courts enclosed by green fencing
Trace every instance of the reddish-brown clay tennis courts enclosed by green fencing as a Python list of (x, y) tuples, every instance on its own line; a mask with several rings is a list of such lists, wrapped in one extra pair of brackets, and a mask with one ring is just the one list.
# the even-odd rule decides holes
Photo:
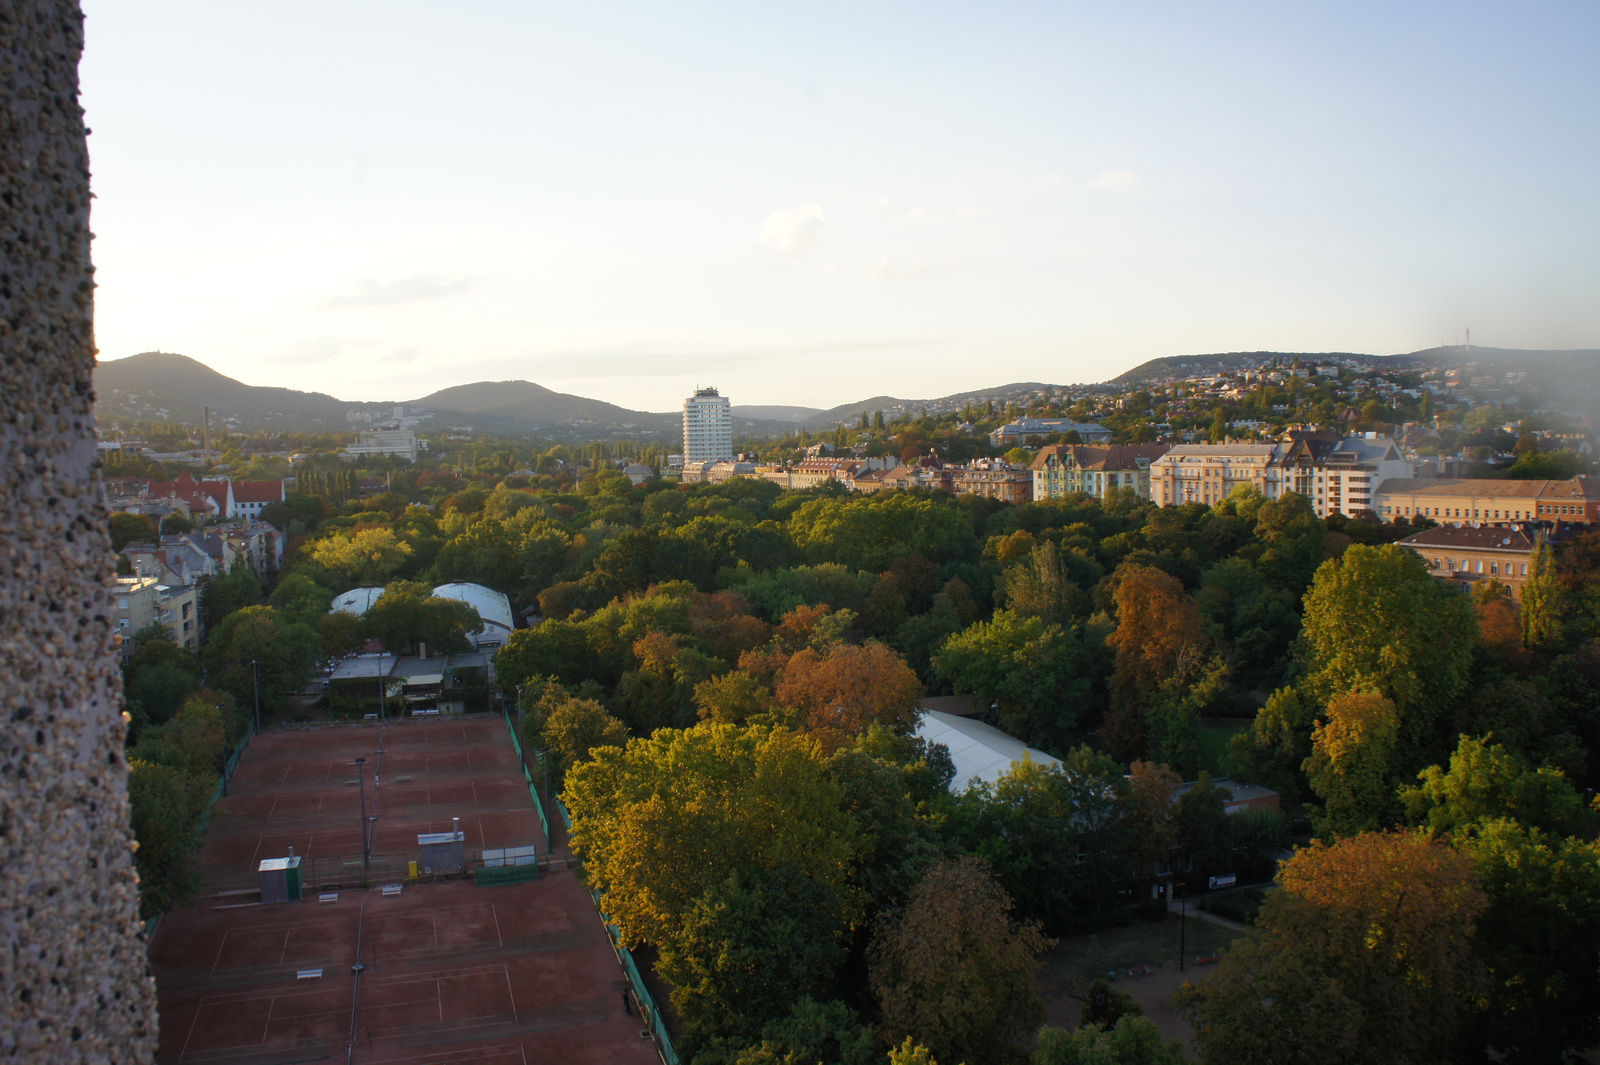
[[(366, 758), (366, 812), (378, 817), (366, 888), (357, 756)], [(416, 836), (450, 832), (453, 819), (469, 859), (483, 848), (546, 851), (499, 716), (256, 737), (211, 817), (202, 897), (170, 913), (150, 943), (157, 1060), (658, 1063), (573, 873), (382, 891), (416, 859)], [(288, 848), (302, 857), (304, 900), (261, 905), (258, 864)]]

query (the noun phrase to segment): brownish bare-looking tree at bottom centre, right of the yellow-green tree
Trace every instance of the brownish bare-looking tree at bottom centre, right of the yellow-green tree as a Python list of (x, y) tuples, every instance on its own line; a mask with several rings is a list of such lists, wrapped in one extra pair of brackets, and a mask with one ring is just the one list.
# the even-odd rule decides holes
[(904, 908), (882, 919), (869, 977), (891, 1043), (910, 1036), (939, 1059), (986, 1065), (1038, 1027), (1035, 956), (1051, 940), (1010, 910), (986, 865), (960, 857), (928, 870)]

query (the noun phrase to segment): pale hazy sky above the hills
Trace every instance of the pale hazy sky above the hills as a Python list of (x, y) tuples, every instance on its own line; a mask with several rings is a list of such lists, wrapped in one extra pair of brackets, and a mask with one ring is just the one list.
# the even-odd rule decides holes
[(1600, 5), (85, 0), (102, 358), (645, 409), (1600, 345)]

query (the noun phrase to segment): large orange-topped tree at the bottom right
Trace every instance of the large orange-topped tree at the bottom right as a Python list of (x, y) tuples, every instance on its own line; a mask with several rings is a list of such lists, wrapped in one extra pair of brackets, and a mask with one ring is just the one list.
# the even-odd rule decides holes
[(1314, 843), (1282, 891), (1178, 1006), (1206, 1065), (1451, 1060), (1483, 987), (1472, 953), (1486, 905), (1470, 859), (1414, 832)]

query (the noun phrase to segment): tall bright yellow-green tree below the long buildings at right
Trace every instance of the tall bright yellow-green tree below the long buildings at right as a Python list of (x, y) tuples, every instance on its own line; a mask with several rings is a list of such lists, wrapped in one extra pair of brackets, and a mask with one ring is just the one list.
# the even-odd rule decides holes
[(1394, 702), (1398, 763), (1414, 771), (1442, 753), (1442, 712), (1467, 683), (1475, 636), (1472, 603), (1414, 552), (1357, 544), (1306, 593), (1306, 689), (1323, 705), (1350, 692)]

